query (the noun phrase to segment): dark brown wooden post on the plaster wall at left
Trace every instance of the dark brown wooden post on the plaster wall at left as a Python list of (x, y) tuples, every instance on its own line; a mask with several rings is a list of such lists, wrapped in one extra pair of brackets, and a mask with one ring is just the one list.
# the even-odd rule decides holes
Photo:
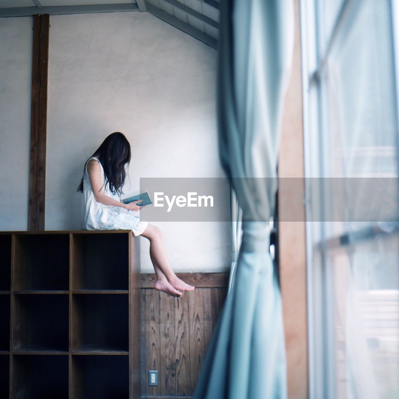
[(44, 230), (49, 15), (33, 24), (28, 230)]

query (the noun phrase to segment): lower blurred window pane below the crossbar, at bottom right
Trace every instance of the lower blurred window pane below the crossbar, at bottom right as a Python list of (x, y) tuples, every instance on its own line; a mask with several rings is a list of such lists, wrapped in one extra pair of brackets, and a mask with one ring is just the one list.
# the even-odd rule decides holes
[(399, 397), (399, 237), (329, 251), (337, 399)]

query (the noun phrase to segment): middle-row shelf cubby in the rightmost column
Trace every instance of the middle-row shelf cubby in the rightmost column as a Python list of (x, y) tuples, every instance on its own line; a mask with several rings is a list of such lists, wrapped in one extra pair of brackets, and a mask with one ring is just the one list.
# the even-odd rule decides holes
[(128, 355), (128, 294), (73, 294), (72, 353)]

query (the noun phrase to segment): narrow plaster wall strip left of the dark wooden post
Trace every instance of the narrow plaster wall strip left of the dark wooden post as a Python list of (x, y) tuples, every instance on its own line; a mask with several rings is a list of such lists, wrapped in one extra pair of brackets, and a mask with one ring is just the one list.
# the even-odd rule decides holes
[(0, 231), (28, 228), (33, 18), (0, 18)]

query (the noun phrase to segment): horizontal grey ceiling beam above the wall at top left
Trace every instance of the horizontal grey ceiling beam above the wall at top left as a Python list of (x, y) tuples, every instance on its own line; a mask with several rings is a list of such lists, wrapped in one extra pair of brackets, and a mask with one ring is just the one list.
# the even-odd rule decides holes
[(92, 12), (129, 12), (139, 11), (136, 3), (87, 4), (83, 6), (44, 6), (0, 8), (0, 17), (27, 17), (38, 14), (86, 14)]

